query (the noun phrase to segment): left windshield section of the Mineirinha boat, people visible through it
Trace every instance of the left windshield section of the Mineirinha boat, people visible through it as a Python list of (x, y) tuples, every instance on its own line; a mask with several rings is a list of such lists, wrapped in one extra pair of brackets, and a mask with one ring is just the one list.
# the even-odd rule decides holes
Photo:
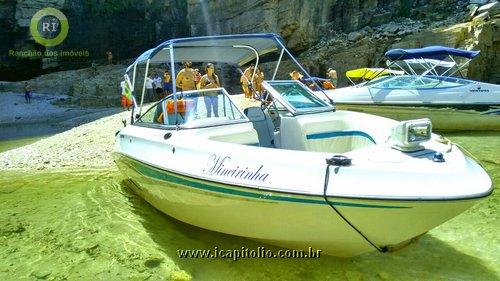
[(234, 105), (227, 92), (217, 88), (177, 93), (177, 101), (170, 95), (151, 106), (136, 124), (200, 128), (246, 121), (248, 119)]

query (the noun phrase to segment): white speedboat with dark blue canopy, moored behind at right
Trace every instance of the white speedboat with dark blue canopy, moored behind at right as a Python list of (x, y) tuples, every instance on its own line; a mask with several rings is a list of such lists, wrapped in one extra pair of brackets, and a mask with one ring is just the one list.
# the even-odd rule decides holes
[(500, 86), (453, 77), (478, 54), (440, 46), (390, 50), (390, 65), (405, 75), (379, 77), (327, 95), (341, 109), (398, 120), (429, 117), (439, 130), (500, 130)]

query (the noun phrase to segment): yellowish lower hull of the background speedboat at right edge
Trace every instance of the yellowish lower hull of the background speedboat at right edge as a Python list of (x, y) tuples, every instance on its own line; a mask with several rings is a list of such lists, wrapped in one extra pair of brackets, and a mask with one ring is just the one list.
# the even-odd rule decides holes
[(439, 131), (500, 130), (500, 112), (487, 114), (486, 111), (453, 108), (452, 106), (428, 107), (349, 103), (338, 103), (337, 108), (374, 114), (399, 121), (430, 118), (433, 129)]

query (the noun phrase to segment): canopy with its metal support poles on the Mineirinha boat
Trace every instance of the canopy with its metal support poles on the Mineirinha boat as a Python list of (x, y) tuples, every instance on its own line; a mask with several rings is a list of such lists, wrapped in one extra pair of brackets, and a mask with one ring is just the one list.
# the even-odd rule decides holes
[[(255, 61), (255, 68), (253, 73), (253, 75), (255, 75), (259, 64), (259, 59), (262, 56), (271, 53), (279, 54), (278, 64), (276, 65), (276, 68), (274, 70), (272, 80), (274, 80), (276, 76), (284, 53), (288, 54), (288, 56), (297, 65), (298, 69), (300, 69), (300, 71), (304, 73), (305, 77), (310, 77), (309, 73), (286, 49), (283, 39), (279, 35), (274, 33), (203, 36), (168, 40), (164, 43), (161, 43), (156, 48), (144, 52), (134, 61), (132, 65), (127, 68), (126, 72), (129, 73), (131, 70), (133, 71), (132, 88), (135, 89), (138, 65), (146, 65), (146, 71), (144, 74), (144, 78), (146, 78), (151, 63), (170, 63), (173, 96), (174, 100), (176, 101), (176, 63), (191, 61), (227, 63), (237, 66), (243, 66)], [(253, 77), (250, 81), (253, 81)], [(145, 86), (146, 79), (144, 79), (144, 84), (142, 85), (139, 115), (142, 112)], [(174, 110), (177, 113), (176, 105)]]

